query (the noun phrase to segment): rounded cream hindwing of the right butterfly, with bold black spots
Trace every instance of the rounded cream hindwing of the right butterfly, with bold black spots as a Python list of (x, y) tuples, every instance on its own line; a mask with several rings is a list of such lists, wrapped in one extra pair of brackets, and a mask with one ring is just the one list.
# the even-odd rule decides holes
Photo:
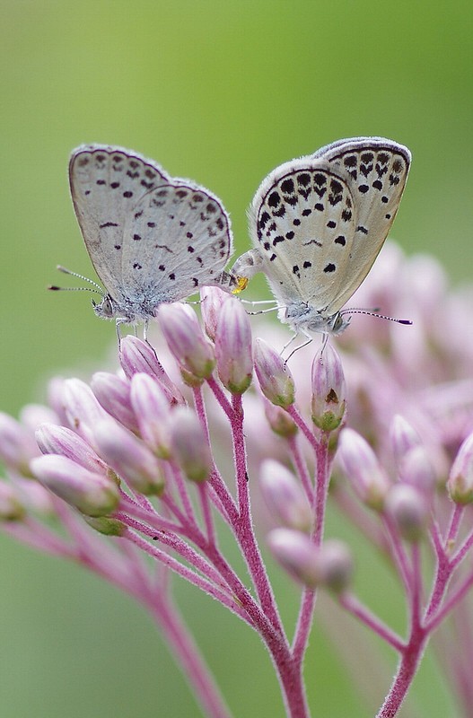
[(268, 175), (250, 207), (250, 233), (276, 299), (318, 311), (344, 291), (358, 225), (345, 171), (302, 157)]

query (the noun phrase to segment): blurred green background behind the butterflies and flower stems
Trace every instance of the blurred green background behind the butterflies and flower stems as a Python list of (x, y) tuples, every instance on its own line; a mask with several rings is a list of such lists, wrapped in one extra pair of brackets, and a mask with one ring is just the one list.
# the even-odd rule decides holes
[[(473, 4), (15, 0), (0, 9), (2, 409), (41, 399), (55, 372), (103, 368), (114, 347), (115, 329), (95, 319), (88, 295), (45, 289), (67, 279), (58, 263), (93, 276), (66, 180), (70, 150), (84, 142), (134, 148), (212, 189), (245, 250), (245, 211), (268, 171), (341, 137), (390, 137), (414, 155), (393, 236), (409, 254), (434, 253), (453, 281), (470, 280)], [(198, 714), (142, 609), (7, 538), (0, 550), (2, 716), (26, 718), (33, 705), (39, 718)], [(276, 576), (293, 617), (296, 591)], [(365, 595), (383, 613), (398, 598), (389, 581), (371, 585), (365, 570)], [(283, 716), (256, 636), (187, 586), (177, 594), (235, 716)], [(399, 629), (402, 619), (401, 610)], [(356, 694), (328, 625), (318, 624), (308, 658), (314, 715), (371, 714), (370, 689)], [(387, 659), (386, 683), (373, 679), (378, 700), (394, 668)], [(454, 714), (427, 661), (403, 715)]]

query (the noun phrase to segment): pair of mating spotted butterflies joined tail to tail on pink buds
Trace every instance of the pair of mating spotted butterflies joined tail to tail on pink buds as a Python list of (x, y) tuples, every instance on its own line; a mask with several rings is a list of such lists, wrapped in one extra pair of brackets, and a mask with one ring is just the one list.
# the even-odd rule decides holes
[(162, 302), (205, 285), (238, 291), (263, 272), (280, 320), (306, 337), (337, 334), (394, 221), (410, 159), (402, 144), (355, 137), (277, 167), (250, 206), (254, 249), (227, 273), (232, 232), (218, 197), (138, 153), (78, 147), (69, 162), (74, 210), (106, 290), (92, 283), (102, 296), (95, 313), (147, 325)]

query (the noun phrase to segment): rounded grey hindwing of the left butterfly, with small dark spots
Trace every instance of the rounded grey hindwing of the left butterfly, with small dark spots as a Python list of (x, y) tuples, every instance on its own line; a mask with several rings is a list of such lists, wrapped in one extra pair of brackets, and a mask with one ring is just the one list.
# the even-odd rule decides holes
[(220, 200), (187, 180), (145, 194), (124, 223), (121, 282), (148, 306), (177, 302), (218, 284), (232, 254), (230, 219)]

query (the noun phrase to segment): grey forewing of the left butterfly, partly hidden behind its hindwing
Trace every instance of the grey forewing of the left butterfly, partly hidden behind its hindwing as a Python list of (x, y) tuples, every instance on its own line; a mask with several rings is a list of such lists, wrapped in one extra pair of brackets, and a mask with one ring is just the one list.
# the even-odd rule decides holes
[(83, 145), (71, 154), (69, 183), (83, 241), (118, 304), (124, 299), (120, 278), (128, 218), (146, 194), (168, 181), (158, 164), (122, 147)]

